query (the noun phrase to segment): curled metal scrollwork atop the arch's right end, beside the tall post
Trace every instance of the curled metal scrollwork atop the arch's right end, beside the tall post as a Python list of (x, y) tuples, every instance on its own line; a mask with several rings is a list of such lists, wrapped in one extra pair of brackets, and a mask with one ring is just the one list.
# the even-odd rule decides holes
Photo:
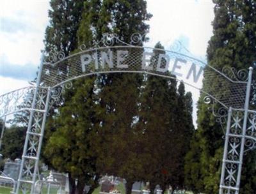
[(236, 68), (224, 66), (222, 68), (222, 73), (224, 73), (224, 75), (237, 82), (246, 82), (248, 80), (247, 70), (237, 71)]

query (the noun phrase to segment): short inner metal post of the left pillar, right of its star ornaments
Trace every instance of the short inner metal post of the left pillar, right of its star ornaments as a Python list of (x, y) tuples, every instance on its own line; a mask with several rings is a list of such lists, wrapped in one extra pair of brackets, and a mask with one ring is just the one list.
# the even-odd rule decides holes
[(40, 158), (41, 147), (42, 147), (42, 142), (43, 142), (43, 137), (44, 137), (45, 121), (46, 121), (46, 117), (47, 117), (47, 111), (48, 111), (48, 107), (49, 107), (49, 100), (50, 100), (50, 96), (51, 96), (50, 94), (51, 94), (51, 87), (49, 87), (48, 91), (47, 91), (47, 98), (46, 98), (46, 102), (45, 102), (44, 118), (43, 118), (43, 123), (42, 123), (41, 135), (40, 135), (40, 140), (39, 140), (39, 144), (38, 144), (38, 151), (36, 153), (36, 163), (35, 163), (33, 180), (32, 180), (33, 184), (31, 186), (31, 192), (30, 192), (31, 194), (33, 194), (33, 191), (35, 189), (36, 174), (37, 174), (36, 172), (38, 172), (38, 170), (39, 170), (38, 162), (39, 162), (39, 158)]

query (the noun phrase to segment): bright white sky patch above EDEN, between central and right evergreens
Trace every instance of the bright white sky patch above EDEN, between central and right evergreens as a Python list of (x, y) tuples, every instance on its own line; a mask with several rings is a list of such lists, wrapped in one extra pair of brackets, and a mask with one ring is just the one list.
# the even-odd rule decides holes
[(212, 1), (148, 0), (148, 12), (153, 17), (150, 24), (150, 45), (161, 41), (166, 47), (179, 39), (189, 38), (188, 50), (196, 56), (205, 56), (207, 42), (212, 36), (214, 19)]

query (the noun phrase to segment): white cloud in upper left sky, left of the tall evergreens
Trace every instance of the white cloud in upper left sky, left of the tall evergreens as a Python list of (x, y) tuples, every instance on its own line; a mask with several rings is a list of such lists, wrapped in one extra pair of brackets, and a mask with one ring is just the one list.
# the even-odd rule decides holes
[[(44, 48), (44, 32), (47, 26), (48, 1), (1, 1), (1, 20), (19, 22), (24, 29), (6, 32), (6, 25), (1, 25), (0, 56), (6, 56), (13, 64), (24, 65), (40, 63), (40, 50)], [(13, 26), (15, 27), (15, 26)]]

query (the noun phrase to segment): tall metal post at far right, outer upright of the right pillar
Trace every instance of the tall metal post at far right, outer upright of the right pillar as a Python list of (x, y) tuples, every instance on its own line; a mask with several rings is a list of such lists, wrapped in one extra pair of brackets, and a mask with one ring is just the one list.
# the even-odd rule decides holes
[[(239, 168), (237, 172), (237, 183), (236, 187), (239, 188), (240, 181), (241, 181), (241, 171), (242, 171), (242, 165), (243, 165), (243, 154), (244, 154), (244, 141), (245, 141), (245, 135), (246, 135), (246, 124), (247, 124), (247, 117), (248, 117), (248, 107), (250, 102), (250, 91), (251, 91), (251, 84), (252, 84), (252, 70), (253, 68), (249, 68), (249, 75), (248, 75), (248, 82), (246, 87), (246, 97), (245, 97), (245, 103), (244, 103), (244, 120), (243, 120), (243, 134), (242, 134), (242, 140), (241, 140), (241, 149), (239, 154)], [(236, 191), (236, 194), (239, 193), (239, 190)]]

